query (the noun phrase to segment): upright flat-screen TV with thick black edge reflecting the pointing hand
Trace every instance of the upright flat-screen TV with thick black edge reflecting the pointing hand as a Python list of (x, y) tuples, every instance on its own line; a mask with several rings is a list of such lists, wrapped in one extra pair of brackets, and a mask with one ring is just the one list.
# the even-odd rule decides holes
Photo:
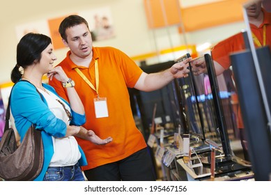
[(193, 59), (189, 63), (189, 68), (191, 70), (189, 77), (194, 88), (194, 95), (192, 94), (190, 98), (199, 109), (205, 141), (222, 148), (226, 157), (230, 157), (228, 127), (233, 127), (233, 125), (227, 125), (232, 120), (231, 110), (229, 110), (231, 98), (226, 81), (224, 77), (219, 79), (219, 83), (222, 84), (219, 88), (210, 54)]

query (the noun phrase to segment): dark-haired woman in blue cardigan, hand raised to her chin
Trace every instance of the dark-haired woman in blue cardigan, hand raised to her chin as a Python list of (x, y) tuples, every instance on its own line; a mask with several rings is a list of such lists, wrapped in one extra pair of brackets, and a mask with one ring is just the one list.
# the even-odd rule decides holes
[[(45, 159), (35, 180), (84, 180), (80, 166), (87, 164), (86, 157), (74, 136), (96, 144), (109, 143), (111, 138), (102, 140), (93, 131), (80, 127), (86, 121), (83, 104), (72, 79), (61, 67), (53, 67), (56, 56), (52, 50), (51, 39), (42, 34), (28, 33), (20, 40), (17, 65), (11, 73), (11, 80), (16, 84), (11, 93), (10, 109), (21, 141), (31, 124), (42, 130)], [(42, 84), (45, 74), (63, 83), (70, 104), (59, 97), (52, 86)]]

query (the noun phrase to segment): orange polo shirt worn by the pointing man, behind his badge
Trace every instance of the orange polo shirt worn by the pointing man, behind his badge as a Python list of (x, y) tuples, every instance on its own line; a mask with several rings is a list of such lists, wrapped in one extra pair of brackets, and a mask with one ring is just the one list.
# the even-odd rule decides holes
[[(79, 68), (96, 87), (95, 59), (98, 59), (98, 92), (100, 98), (107, 98), (109, 117), (104, 118), (95, 117), (94, 98), (97, 98), (97, 93), (75, 71), (75, 68)], [(93, 47), (93, 59), (89, 68), (73, 63), (70, 60), (70, 51), (59, 65), (68, 77), (75, 81), (75, 89), (86, 112), (86, 123), (83, 126), (87, 130), (93, 130), (101, 139), (113, 138), (111, 143), (104, 146), (77, 138), (88, 160), (88, 165), (83, 166), (82, 170), (116, 162), (146, 148), (144, 137), (134, 123), (127, 91), (127, 87), (134, 87), (142, 73), (132, 59), (113, 47)], [(68, 100), (61, 82), (53, 79), (49, 84), (61, 97)]]

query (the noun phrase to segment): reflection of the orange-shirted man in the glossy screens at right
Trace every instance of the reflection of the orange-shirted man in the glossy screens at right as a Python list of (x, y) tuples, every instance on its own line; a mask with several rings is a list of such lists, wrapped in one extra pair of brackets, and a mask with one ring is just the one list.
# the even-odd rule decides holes
[[(268, 45), (271, 49), (271, 13), (268, 13), (261, 7), (261, 0), (249, 1), (245, 8), (249, 19), (249, 26), (254, 39), (255, 47)], [(212, 59), (217, 75), (222, 74), (224, 70), (229, 69), (231, 61), (229, 55), (231, 52), (237, 52), (245, 49), (245, 41), (242, 33), (238, 33), (222, 42), (219, 42), (212, 48)], [(202, 61), (195, 62), (192, 71), (198, 74), (206, 71), (206, 65)], [(197, 64), (197, 65), (196, 65)], [(249, 160), (247, 153), (247, 141), (245, 139), (245, 127), (242, 121), (241, 111), (238, 109), (238, 128), (240, 130), (240, 140), (244, 151), (245, 159)]]

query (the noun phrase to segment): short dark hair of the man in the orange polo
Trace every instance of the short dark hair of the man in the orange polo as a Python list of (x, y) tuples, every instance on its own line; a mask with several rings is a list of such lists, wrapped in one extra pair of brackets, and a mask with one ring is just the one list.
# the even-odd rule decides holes
[(86, 24), (86, 26), (88, 27), (88, 22), (86, 22), (84, 17), (81, 17), (79, 15), (70, 15), (68, 17), (65, 17), (65, 19), (59, 25), (59, 33), (61, 35), (61, 38), (63, 38), (63, 40), (67, 42), (67, 36), (65, 33), (66, 30), (72, 26), (76, 26), (83, 23)]

